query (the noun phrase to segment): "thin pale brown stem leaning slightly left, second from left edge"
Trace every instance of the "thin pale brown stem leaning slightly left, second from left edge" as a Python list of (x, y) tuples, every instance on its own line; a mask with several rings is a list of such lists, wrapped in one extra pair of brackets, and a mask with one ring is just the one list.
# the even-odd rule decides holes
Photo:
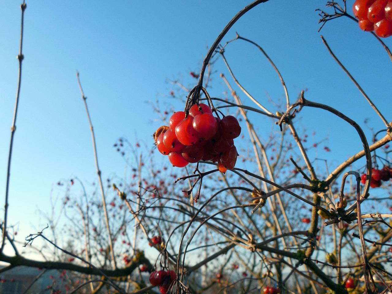
[(111, 256), (112, 256), (112, 261), (113, 261), (114, 269), (116, 269), (116, 268), (117, 268), (117, 265), (116, 265), (116, 258), (115, 258), (114, 251), (113, 251), (113, 240), (112, 240), (112, 234), (111, 234), (110, 226), (109, 226), (109, 218), (108, 218), (108, 216), (107, 216), (106, 200), (105, 200), (105, 193), (103, 192), (101, 171), (100, 171), (99, 166), (98, 166), (98, 156), (97, 156), (97, 150), (96, 150), (96, 145), (95, 145), (95, 136), (94, 136), (93, 125), (92, 125), (92, 123), (91, 123), (90, 114), (89, 114), (89, 109), (87, 108), (87, 103), (86, 103), (87, 97), (84, 96), (83, 89), (82, 89), (82, 85), (80, 84), (80, 79), (79, 79), (79, 73), (78, 73), (78, 72), (76, 73), (76, 77), (78, 78), (78, 85), (79, 85), (80, 93), (82, 93), (82, 99), (83, 99), (83, 102), (84, 102), (84, 106), (85, 106), (85, 108), (86, 108), (87, 119), (89, 120), (89, 125), (90, 125), (90, 130), (91, 130), (91, 137), (92, 137), (92, 139), (93, 139), (93, 149), (94, 149), (95, 167), (96, 167), (96, 169), (97, 169), (98, 181), (99, 181), (99, 186), (100, 186), (100, 190), (101, 190), (102, 206), (103, 206), (103, 212), (104, 212), (104, 214), (105, 214), (105, 222), (106, 222), (107, 234), (108, 234), (108, 237), (109, 237), (110, 252), (111, 252)]

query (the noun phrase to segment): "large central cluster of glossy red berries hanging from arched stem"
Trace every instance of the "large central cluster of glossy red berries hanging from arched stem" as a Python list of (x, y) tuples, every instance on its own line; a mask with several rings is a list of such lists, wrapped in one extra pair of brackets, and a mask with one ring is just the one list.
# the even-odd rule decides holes
[(175, 112), (169, 127), (162, 126), (154, 134), (158, 151), (167, 155), (173, 166), (185, 167), (200, 160), (218, 162), (223, 173), (233, 169), (237, 161), (237, 149), (233, 139), (240, 136), (238, 120), (231, 115), (222, 119), (212, 115), (207, 104), (200, 103), (189, 109)]

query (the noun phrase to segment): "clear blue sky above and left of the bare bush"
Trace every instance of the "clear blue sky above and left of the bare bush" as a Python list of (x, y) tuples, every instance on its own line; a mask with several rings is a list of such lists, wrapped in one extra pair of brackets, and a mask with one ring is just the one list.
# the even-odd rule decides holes
[[(347, 1), (351, 13), (353, 0)], [(146, 101), (168, 100), (167, 78), (186, 85), (196, 80), (201, 60), (229, 20), (250, 1), (27, 1), (25, 11), (22, 88), (11, 165), (9, 222), (19, 221), (23, 240), (38, 226), (37, 208), (49, 211), (56, 183), (77, 176), (95, 181), (91, 135), (76, 71), (96, 132), (103, 179), (123, 174), (124, 163), (113, 144), (125, 136), (151, 147), (151, 134), (161, 125)], [(328, 22), (318, 33), (318, 13), (326, 1), (270, 0), (247, 13), (223, 43), (241, 36), (260, 44), (274, 60), (287, 84), (291, 102), (302, 89), (306, 98), (336, 107), (377, 131), (381, 120), (332, 60), (321, 42), (323, 34), (388, 121), (391, 111), (391, 62), (383, 47), (348, 18)], [(20, 3), (0, 3), (0, 205), (3, 207), (10, 127), (17, 86)], [(392, 38), (385, 40), (392, 47)], [(230, 50), (231, 48), (231, 50)], [(283, 100), (280, 82), (265, 58), (250, 45), (233, 44), (227, 57), (243, 85), (262, 103), (266, 92)], [(215, 69), (226, 73), (218, 61)], [(218, 75), (214, 82), (220, 85)], [(221, 96), (223, 87), (210, 90)], [(216, 92), (214, 92), (216, 91)], [(245, 96), (243, 102), (252, 105)], [(168, 109), (169, 110), (169, 107)], [(308, 112), (309, 111), (309, 112)], [(306, 113), (305, 113), (306, 112)], [(330, 154), (339, 163), (361, 145), (352, 128), (321, 111), (305, 110), (299, 125), (317, 131), (315, 140), (329, 136)], [(371, 136), (371, 131), (364, 126)], [(270, 129), (270, 126), (267, 127)], [(350, 133), (347, 133), (350, 132)], [(136, 143), (136, 141), (135, 141)], [(52, 190), (53, 189), (53, 190)], [(2, 212), (1, 212), (2, 213)], [(21, 219), (20, 216), (23, 216)], [(41, 222), (42, 223), (42, 222)], [(33, 227), (32, 227), (33, 226)]]

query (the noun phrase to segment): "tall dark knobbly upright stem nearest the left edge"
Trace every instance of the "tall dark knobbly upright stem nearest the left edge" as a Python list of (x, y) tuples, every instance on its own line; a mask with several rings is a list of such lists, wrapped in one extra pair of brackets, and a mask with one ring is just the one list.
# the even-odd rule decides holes
[(22, 20), (20, 25), (20, 45), (19, 45), (19, 54), (17, 56), (19, 60), (19, 73), (18, 73), (18, 89), (16, 90), (16, 100), (15, 100), (15, 110), (14, 110), (14, 118), (12, 121), (11, 127), (11, 140), (9, 143), (9, 152), (8, 152), (8, 165), (7, 165), (7, 183), (5, 184), (5, 204), (4, 204), (4, 225), (3, 225), (3, 240), (1, 244), (0, 254), (3, 253), (4, 245), (5, 245), (5, 238), (7, 235), (7, 216), (8, 216), (8, 194), (9, 194), (9, 178), (11, 174), (11, 155), (12, 155), (12, 146), (14, 142), (14, 134), (16, 130), (16, 113), (18, 111), (18, 102), (19, 102), (19, 95), (20, 95), (20, 84), (22, 81), (22, 61), (23, 61), (23, 54), (22, 54), (22, 45), (23, 45), (23, 18), (24, 18), (24, 11), (27, 5), (23, 1), (23, 4), (20, 5), (20, 9), (22, 9)]

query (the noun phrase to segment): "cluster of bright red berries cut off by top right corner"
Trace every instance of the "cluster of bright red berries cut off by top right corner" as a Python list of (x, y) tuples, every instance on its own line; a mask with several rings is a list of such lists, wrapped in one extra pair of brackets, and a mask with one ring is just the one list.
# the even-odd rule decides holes
[(374, 31), (381, 38), (392, 36), (391, 0), (356, 0), (352, 11), (361, 30)]

